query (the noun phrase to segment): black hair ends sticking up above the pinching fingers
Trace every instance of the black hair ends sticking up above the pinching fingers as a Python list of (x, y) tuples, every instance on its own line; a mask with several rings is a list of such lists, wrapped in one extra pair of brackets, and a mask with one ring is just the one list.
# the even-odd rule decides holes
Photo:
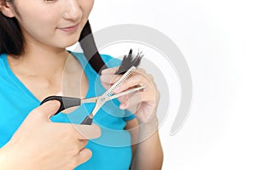
[(124, 56), (124, 59), (122, 60), (121, 65), (119, 66), (119, 70), (116, 71), (115, 74), (125, 74), (125, 72), (131, 68), (131, 66), (137, 67), (138, 65), (140, 65), (141, 60), (143, 58), (142, 53), (143, 52), (137, 52), (137, 55), (134, 57), (132, 55), (132, 49), (130, 49), (129, 54)]

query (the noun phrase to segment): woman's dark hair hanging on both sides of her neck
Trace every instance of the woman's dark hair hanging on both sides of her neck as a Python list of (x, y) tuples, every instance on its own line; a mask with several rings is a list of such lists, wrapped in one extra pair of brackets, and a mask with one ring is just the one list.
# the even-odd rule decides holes
[[(99, 54), (94, 41), (89, 20), (86, 22), (79, 37), (80, 45), (90, 65), (100, 73), (106, 66)], [(19, 56), (24, 53), (24, 37), (20, 31), (18, 21), (0, 12), (0, 54)]]

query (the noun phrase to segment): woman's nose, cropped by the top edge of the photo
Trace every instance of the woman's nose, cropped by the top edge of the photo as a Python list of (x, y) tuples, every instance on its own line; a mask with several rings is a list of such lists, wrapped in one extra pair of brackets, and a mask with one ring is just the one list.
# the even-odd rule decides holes
[(80, 8), (78, 0), (66, 0), (63, 2), (65, 2), (64, 19), (76, 21), (82, 17), (82, 9)]

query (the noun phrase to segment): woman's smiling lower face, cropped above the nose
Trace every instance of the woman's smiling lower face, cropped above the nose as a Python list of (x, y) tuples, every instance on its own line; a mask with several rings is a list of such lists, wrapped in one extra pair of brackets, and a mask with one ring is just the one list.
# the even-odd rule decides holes
[(15, 0), (26, 42), (66, 48), (79, 40), (94, 0)]

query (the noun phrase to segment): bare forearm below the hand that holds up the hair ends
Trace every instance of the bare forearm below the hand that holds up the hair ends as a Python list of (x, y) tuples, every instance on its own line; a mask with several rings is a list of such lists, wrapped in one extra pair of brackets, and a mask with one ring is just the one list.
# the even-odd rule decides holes
[(152, 124), (136, 127), (138, 127), (137, 119), (127, 122), (125, 127), (127, 130), (133, 129), (130, 131), (133, 144), (131, 169), (161, 169), (163, 150), (158, 129), (152, 128)]

